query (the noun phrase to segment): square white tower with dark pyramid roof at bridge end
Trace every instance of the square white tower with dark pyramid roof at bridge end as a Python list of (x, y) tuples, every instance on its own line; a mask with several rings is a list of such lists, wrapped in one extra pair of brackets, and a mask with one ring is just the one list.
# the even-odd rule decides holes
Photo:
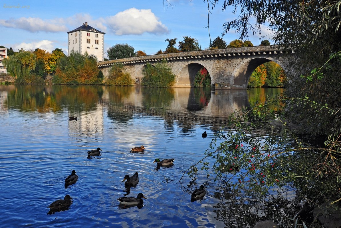
[(88, 22), (74, 29), (69, 34), (69, 53), (71, 50), (84, 54), (86, 51), (89, 58), (94, 58), (97, 62), (104, 60), (104, 32), (94, 29)]

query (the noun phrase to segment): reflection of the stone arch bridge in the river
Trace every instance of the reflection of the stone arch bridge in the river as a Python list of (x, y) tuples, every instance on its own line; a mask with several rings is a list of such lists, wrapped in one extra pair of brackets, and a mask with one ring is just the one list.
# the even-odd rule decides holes
[(208, 125), (219, 130), (231, 113), (248, 105), (246, 90), (145, 87), (127, 87), (127, 90), (122, 97), (120, 87), (105, 88), (100, 104), (108, 107), (110, 118), (122, 120), (122, 113), (126, 118), (143, 113), (161, 117), (169, 125), (177, 121), (182, 129)]

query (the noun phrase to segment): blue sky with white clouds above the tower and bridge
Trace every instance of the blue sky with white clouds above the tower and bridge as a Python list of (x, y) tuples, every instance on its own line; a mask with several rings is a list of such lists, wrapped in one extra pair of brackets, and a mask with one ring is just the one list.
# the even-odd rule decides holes
[[(168, 5), (170, 3), (172, 6)], [(235, 15), (222, 12), (219, 2), (209, 16), (211, 40), (221, 37), (223, 23)], [(165, 39), (190, 36), (202, 49), (210, 44), (207, 27), (207, 2), (203, 0), (127, 0), (127, 1), (21, 1), (2, 0), (0, 5), (0, 45), (26, 50), (41, 48), (49, 52), (61, 48), (67, 54), (68, 34), (84, 22), (105, 32), (104, 50), (127, 43), (147, 55), (165, 50)], [(270, 32), (264, 28), (262, 35)], [(223, 37), (228, 44), (238, 38), (231, 32)], [(260, 35), (249, 39), (259, 45)], [(262, 39), (269, 39), (265, 36)], [(271, 42), (271, 40), (270, 40)], [(106, 53), (104, 54), (106, 56)]]

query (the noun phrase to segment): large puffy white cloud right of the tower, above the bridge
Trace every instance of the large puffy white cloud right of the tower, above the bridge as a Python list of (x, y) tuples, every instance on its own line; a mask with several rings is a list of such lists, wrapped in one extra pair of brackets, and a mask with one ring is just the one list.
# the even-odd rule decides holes
[(116, 35), (167, 34), (168, 29), (151, 10), (131, 8), (106, 18), (108, 27)]

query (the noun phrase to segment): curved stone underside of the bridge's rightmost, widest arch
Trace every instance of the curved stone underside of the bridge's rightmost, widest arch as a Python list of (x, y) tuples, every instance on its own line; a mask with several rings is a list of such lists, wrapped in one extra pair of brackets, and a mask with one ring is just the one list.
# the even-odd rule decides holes
[(279, 59), (274, 58), (249, 58), (245, 59), (242, 63), (240, 63), (235, 71), (233, 72), (233, 75), (235, 75), (233, 84), (236, 86), (241, 86), (246, 88), (248, 86), (248, 82), (250, 79), (250, 76), (252, 72), (260, 65), (267, 63), (267, 62), (275, 62), (278, 65), (280, 65), (285, 72), (287, 72), (286, 67), (282, 64)]

